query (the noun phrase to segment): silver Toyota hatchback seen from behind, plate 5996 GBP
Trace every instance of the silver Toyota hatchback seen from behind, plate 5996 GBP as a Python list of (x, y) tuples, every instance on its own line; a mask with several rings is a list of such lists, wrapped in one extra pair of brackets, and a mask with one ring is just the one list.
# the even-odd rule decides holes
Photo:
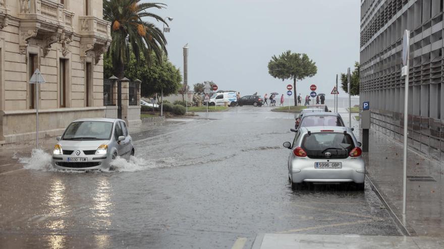
[(288, 158), (292, 189), (303, 183), (355, 183), (364, 189), (365, 163), (358, 142), (349, 127), (300, 127)]

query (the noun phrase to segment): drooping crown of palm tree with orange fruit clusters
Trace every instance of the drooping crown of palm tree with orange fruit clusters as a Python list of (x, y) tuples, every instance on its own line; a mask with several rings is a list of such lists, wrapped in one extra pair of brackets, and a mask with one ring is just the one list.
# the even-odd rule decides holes
[[(142, 18), (154, 18), (165, 23), (163, 19), (146, 10), (149, 8), (162, 9), (167, 5), (159, 3), (139, 3), (141, 0), (103, 0), (103, 16), (111, 22), (111, 36), (113, 38), (108, 53), (113, 60), (114, 73), (117, 77), (125, 76), (125, 64), (129, 62), (130, 53), (134, 53), (140, 60), (143, 54), (150, 63), (152, 56), (160, 62), (163, 54), (167, 54), (167, 40), (162, 31), (154, 24)], [(165, 23), (167, 24), (167, 23)], [(167, 24), (168, 26), (168, 24)]]

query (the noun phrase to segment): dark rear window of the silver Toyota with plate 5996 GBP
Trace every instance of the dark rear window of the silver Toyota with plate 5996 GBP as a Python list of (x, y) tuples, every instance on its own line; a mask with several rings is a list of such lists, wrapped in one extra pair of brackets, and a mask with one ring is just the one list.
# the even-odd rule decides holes
[(321, 154), (326, 150), (343, 150), (345, 154), (355, 147), (350, 134), (339, 132), (317, 132), (311, 135), (305, 134), (301, 147), (308, 155)]

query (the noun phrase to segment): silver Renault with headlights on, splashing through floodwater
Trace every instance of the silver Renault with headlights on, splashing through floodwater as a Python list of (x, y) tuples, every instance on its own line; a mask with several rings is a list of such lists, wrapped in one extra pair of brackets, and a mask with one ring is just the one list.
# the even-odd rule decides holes
[(122, 119), (78, 119), (54, 145), (52, 164), (56, 169), (109, 169), (117, 156), (134, 155), (132, 138)]

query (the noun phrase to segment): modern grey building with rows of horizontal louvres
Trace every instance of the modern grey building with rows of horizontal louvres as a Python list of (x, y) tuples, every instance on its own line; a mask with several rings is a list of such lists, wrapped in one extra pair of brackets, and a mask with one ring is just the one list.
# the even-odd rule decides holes
[(403, 141), (402, 37), (410, 31), (408, 143), (444, 160), (443, 0), (362, 0), (360, 100), (372, 129)]

